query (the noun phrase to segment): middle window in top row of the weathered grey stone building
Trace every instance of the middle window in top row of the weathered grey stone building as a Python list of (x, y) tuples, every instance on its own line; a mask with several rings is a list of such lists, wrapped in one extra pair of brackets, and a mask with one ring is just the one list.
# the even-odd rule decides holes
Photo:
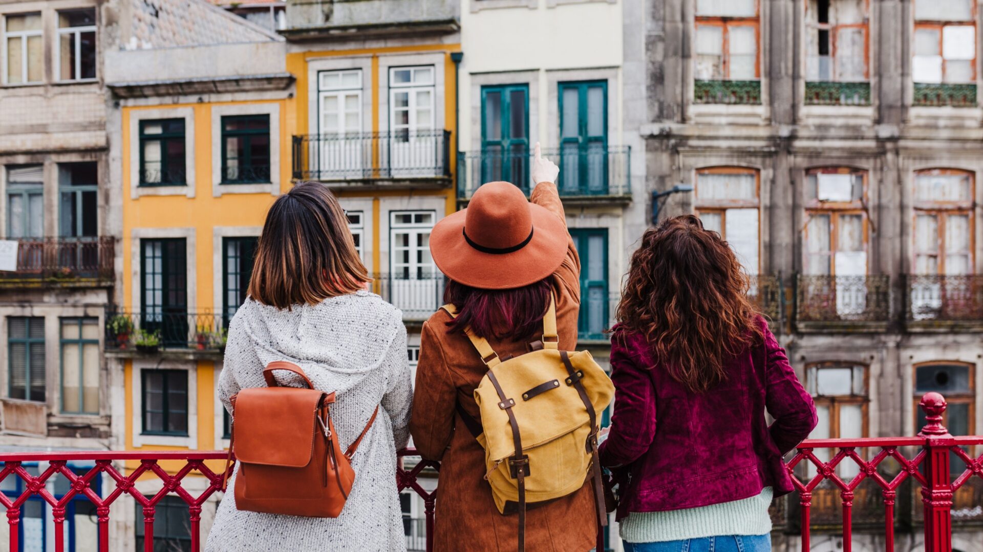
[(806, 80), (867, 80), (867, 6), (864, 0), (810, 0), (807, 4)]

